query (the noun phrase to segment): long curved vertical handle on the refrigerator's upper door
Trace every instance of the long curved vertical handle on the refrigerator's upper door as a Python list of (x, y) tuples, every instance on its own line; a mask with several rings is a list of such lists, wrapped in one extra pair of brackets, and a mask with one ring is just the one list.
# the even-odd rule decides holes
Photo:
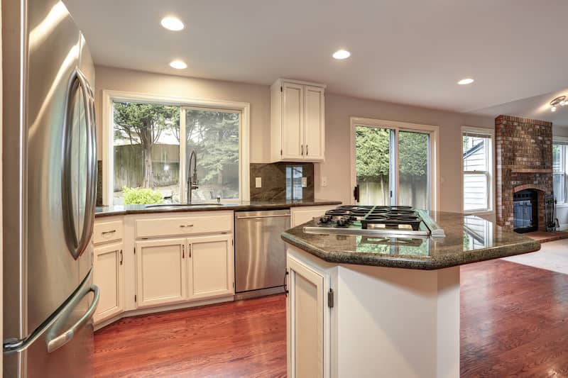
[[(62, 211), (65, 221), (65, 241), (72, 256), (77, 260), (87, 248), (94, 226), (94, 205), (97, 195), (97, 160), (96, 139), (94, 137), (94, 96), (93, 91), (84, 74), (77, 67), (72, 74), (68, 87), (67, 112), (65, 116), (65, 131), (62, 148)], [(87, 195), (85, 199), (85, 213), (81, 237), (77, 239), (75, 229), (75, 214), (72, 205), (72, 177), (71, 177), (71, 128), (72, 106), (71, 101), (77, 91), (82, 92), (84, 102), (85, 122), (87, 123)]]

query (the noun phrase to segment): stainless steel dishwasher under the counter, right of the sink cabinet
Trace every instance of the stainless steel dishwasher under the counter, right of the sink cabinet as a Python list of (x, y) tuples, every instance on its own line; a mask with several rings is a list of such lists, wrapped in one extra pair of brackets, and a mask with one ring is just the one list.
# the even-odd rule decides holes
[(235, 291), (243, 299), (284, 292), (290, 209), (235, 212)]

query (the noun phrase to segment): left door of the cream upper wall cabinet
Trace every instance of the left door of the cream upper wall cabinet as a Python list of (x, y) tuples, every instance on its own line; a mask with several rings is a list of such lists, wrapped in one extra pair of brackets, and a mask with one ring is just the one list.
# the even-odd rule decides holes
[(282, 149), (283, 159), (303, 159), (304, 86), (282, 84)]

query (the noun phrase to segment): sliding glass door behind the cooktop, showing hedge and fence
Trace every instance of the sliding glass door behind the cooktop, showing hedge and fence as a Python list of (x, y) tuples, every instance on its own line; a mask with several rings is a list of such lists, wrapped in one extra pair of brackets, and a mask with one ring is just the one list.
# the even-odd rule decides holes
[(355, 203), (430, 210), (430, 131), (354, 123), (353, 132)]

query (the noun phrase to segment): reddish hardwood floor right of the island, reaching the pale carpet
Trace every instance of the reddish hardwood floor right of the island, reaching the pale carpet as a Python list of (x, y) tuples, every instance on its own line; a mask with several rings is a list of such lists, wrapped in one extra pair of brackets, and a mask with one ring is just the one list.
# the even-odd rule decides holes
[(568, 377), (568, 275), (461, 267), (461, 377)]

